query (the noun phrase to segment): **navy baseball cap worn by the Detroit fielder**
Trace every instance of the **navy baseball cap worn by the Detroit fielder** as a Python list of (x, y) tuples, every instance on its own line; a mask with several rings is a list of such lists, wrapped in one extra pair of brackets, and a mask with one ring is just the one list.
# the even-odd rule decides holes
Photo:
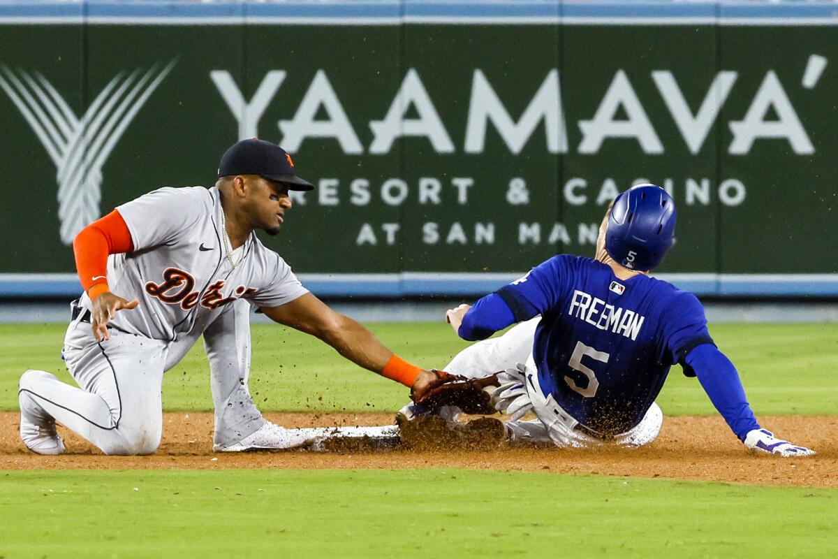
[(235, 142), (221, 156), (219, 178), (234, 174), (257, 174), (262, 179), (287, 184), (289, 190), (314, 189), (313, 184), (297, 177), (294, 162), (284, 149), (257, 138)]

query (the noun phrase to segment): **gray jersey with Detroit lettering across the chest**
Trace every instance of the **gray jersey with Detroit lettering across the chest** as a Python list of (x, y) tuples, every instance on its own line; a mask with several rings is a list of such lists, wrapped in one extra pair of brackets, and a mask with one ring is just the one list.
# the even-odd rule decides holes
[[(308, 292), (254, 233), (227, 257), (215, 187), (158, 189), (116, 210), (134, 250), (110, 256), (108, 285), (116, 295), (140, 301), (116, 313), (110, 324), (118, 330), (174, 342), (196, 337), (237, 299), (277, 307)], [(82, 304), (91, 308), (86, 294)]]

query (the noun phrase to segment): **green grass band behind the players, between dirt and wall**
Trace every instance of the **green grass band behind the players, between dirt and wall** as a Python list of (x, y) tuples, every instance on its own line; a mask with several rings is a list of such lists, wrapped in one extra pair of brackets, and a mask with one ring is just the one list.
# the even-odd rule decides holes
[[(442, 366), (467, 343), (442, 323), (373, 323), (375, 334), (407, 360)], [(0, 324), (0, 409), (18, 406), (25, 369), (70, 380), (60, 324)], [(838, 412), (838, 324), (717, 324), (711, 334), (737, 365), (758, 415)], [(317, 339), (272, 324), (253, 327), (251, 393), (263, 410), (395, 411), (406, 389), (337, 355)], [(715, 413), (696, 379), (675, 366), (659, 398), (670, 415)], [(212, 409), (209, 370), (201, 344), (166, 375), (168, 410)]]

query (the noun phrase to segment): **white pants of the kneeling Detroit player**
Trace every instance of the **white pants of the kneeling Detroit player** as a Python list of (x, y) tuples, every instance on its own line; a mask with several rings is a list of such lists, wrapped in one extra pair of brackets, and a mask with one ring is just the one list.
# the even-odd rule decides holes
[(215, 402), (215, 443), (237, 443), (266, 422), (247, 387), (250, 305), (237, 301), (212, 318), (209, 325), (196, 325), (170, 344), (115, 329), (110, 330), (111, 339), (97, 343), (91, 324), (77, 318), (67, 329), (64, 356), (80, 388), (43, 370), (30, 370), (21, 377), (21, 395), (106, 454), (153, 453), (163, 432), (163, 372), (204, 334)]

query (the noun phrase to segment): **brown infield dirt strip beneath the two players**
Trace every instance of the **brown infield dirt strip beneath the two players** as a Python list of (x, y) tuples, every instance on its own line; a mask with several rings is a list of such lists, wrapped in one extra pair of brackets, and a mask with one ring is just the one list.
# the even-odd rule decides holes
[[(386, 425), (383, 413), (266, 413), (284, 427)], [(761, 417), (764, 427), (814, 448), (811, 458), (774, 458), (745, 452), (718, 417), (666, 417), (660, 436), (645, 448), (428, 448), (343, 452), (265, 451), (213, 453), (211, 413), (164, 414), (163, 443), (142, 457), (109, 457), (59, 427), (68, 453), (39, 456), (18, 437), (18, 413), (0, 413), (0, 469), (133, 468), (478, 468), (551, 471), (645, 478), (692, 479), (739, 484), (838, 488), (838, 417)]]

